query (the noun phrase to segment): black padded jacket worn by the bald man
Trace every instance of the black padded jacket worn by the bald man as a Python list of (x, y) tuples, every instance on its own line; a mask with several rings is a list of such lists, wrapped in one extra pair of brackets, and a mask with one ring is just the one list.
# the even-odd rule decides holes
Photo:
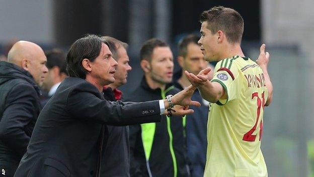
[(32, 75), (0, 62), (0, 169), (13, 176), (26, 152), (40, 112), (40, 91)]

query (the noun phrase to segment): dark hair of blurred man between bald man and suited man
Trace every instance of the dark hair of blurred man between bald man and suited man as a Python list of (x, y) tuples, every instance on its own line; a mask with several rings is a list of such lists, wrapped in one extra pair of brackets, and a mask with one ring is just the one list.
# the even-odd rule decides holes
[(67, 74), (65, 65), (66, 54), (63, 50), (53, 48), (51, 50), (46, 50), (45, 55), (47, 56), (46, 66), (49, 70), (53, 67), (58, 67), (60, 69), (60, 73)]

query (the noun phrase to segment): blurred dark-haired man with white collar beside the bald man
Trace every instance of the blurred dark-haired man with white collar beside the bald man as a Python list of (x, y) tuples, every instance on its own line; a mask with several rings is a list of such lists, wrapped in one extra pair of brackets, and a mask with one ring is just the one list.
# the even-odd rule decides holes
[(57, 90), (60, 83), (67, 76), (65, 65), (65, 53), (61, 49), (52, 49), (45, 52), (47, 56), (46, 66), (48, 73), (42, 84), (42, 89), (48, 92), (42, 100), (42, 105), (45, 105)]

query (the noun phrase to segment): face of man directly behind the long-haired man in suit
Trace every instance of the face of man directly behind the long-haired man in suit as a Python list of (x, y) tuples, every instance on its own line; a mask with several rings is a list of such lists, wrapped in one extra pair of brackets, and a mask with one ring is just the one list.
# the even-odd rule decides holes
[(115, 73), (115, 83), (121, 86), (126, 84), (126, 78), (129, 71), (132, 70), (131, 66), (129, 65), (129, 56), (127, 55), (126, 49), (123, 46), (120, 46), (117, 50), (118, 58), (118, 66), (116, 68)]

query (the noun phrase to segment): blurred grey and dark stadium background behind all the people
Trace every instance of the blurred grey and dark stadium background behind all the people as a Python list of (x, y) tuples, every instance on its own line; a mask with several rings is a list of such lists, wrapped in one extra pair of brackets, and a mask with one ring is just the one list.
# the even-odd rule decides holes
[(217, 5), (243, 16), (247, 56), (257, 58), (262, 42), (271, 53), (274, 100), (266, 108), (262, 139), (269, 176), (313, 177), (312, 0), (0, 0), (0, 54), (6, 55), (16, 40), (67, 49), (86, 33), (116, 37), (130, 45), (133, 70), (122, 87), (127, 94), (141, 79), (138, 55), (145, 40), (158, 37), (169, 42), (176, 57), (177, 42), (199, 33), (200, 13)]

